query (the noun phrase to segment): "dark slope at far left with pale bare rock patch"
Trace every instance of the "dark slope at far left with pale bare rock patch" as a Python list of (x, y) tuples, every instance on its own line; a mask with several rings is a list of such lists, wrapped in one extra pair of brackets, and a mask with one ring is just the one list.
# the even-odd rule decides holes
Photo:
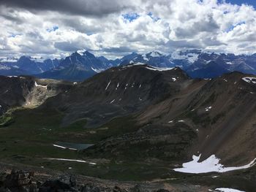
[(70, 82), (37, 80), (29, 76), (0, 76), (1, 115), (13, 107), (36, 107), (48, 97), (56, 96), (70, 87), (72, 87)]

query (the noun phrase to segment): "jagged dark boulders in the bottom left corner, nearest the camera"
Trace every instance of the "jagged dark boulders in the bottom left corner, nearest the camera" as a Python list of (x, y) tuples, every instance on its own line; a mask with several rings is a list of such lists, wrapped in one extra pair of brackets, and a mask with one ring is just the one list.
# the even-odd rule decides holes
[[(82, 191), (82, 192), (149, 192), (141, 185), (135, 185), (133, 188), (123, 189), (118, 186), (113, 188), (104, 188), (102, 186), (86, 183), (78, 185), (74, 175), (63, 175), (56, 180), (46, 180), (44, 182), (34, 179), (34, 172), (23, 172), (12, 170), (10, 174), (0, 174), (0, 192), (48, 192), (48, 191)], [(155, 192), (168, 192), (165, 189), (159, 189)]]

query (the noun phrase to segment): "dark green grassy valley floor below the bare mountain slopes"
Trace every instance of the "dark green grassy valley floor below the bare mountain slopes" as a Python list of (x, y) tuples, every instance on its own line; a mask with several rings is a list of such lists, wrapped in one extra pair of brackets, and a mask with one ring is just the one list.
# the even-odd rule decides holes
[[(54, 147), (53, 145), (58, 142), (96, 144), (102, 139), (138, 130), (131, 117), (116, 118), (98, 128), (86, 128), (86, 119), (78, 120), (69, 126), (61, 126), (63, 117), (64, 114), (57, 110), (39, 108), (21, 108), (12, 112), (12, 123), (0, 128), (1, 169), (6, 165), (8, 169), (36, 169), (37, 172), (45, 174), (56, 170), (61, 173), (77, 174), (80, 177), (84, 175), (119, 182), (179, 186), (190, 191), (207, 191), (219, 187), (254, 191), (256, 188), (255, 167), (225, 174), (184, 174), (172, 170), (173, 167), (179, 166), (175, 161), (155, 158), (131, 161), (131, 157), (127, 161), (91, 158), (78, 150)], [(120, 126), (122, 128), (119, 128)], [(94, 164), (48, 158), (83, 160)]]

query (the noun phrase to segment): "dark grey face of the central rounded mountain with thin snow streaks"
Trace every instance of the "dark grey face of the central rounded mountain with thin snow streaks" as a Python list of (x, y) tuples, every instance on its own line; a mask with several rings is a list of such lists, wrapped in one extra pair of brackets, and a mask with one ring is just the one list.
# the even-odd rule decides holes
[[(140, 65), (111, 68), (91, 77), (74, 90), (60, 94), (53, 101), (49, 99), (46, 106), (58, 107), (61, 103), (67, 109), (65, 119), (69, 122), (78, 118), (76, 116), (81, 115), (82, 111), (86, 111), (94, 117), (89, 117), (92, 119), (89, 124), (100, 124), (118, 115), (136, 112), (167, 96), (165, 89), (169, 82), (165, 82), (165, 78), (172, 73), (174, 72), (160, 72), (156, 68)], [(185, 74), (183, 76), (182, 78), (188, 78)], [(86, 113), (80, 118), (86, 118)]]

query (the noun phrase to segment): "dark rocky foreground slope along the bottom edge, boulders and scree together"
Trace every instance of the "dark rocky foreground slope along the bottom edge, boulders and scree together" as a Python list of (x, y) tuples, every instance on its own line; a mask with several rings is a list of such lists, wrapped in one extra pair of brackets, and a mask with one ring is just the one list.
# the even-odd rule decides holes
[[(46, 191), (83, 191), (83, 192), (168, 192), (168, 191), (207, 191), (193, 185), (159, 185), (159, 183), (123, 183), (64, 174), (56, 178), (47, 174), (38, 177), (38, 172), (12, 170), (0, 174), (0, 192), (46, 192)], [(42, 176), (42, 175), (41, 175)], [(47, 178), (48, 179), (45, 179)], [(40, 179), (39, 179), (40, 178)], [(196, 189), (197, 188), (197, 189)]]

